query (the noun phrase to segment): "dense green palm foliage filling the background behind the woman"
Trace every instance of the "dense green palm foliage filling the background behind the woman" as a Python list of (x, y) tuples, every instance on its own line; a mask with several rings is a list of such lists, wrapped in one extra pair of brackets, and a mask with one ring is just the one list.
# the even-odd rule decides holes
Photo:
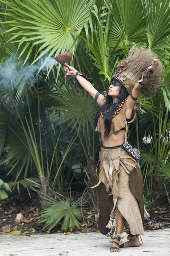
[[(164, 187), (170, 191), (170, 0), (0, 0), (0, 6), (2, 179), (29, 193), (38, 187), (45, 195), (68, 192), (77, 184), (83, 190), (83, 170), (98, 160), (93, 130), (98, 105), (64, 79), (52, 57), (71, 50), (71, 64), (102, 93), (117, 62), (141, 43), (164, 64), (164, 82), (156, 98), (138, 98), (147, 113), (137, 114), (130, 140), (141, 151), (147, 204), (165, 198)], [(72, 166), (81, 166), (82, 177)], [(55, 201), (43, 221), (48, 230), (60, 221), (62, 230), (71, 230), (80, 216), (69, 200)]]

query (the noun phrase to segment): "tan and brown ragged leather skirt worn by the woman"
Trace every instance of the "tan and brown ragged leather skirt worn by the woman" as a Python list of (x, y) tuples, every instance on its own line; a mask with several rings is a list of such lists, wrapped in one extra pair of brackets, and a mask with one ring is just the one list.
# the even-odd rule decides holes
[[(102, 146), (99, 154), (99, 230), (115, 238), (116, 207), (132, 235), (144, 234), (143, 181), (138, 162), (119, 146)], [(92, 188), (94, 188), (92, 187)]]

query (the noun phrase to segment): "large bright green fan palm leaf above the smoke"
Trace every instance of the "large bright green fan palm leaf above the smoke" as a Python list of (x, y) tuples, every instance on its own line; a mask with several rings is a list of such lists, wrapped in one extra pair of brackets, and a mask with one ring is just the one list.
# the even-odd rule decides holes
[[(33, 63), (47, 52), (46, 61), (52, 55), (58, 55), (61, 50), (70, 49), (76, 36), (90, 19), (91, 1), (89, 0), (13, 0), (12, 2), (1, 0), (1, 2), (10, 8), (1, 15), (12, 19), (3, 23), (18, 29), (17, 32), (9, 31), (13, 35), (11, 40), (22, 35), (23, 38), (16, 40), (17, 42), (31, 41), (33, 47), (40, 46)], [(26, 47), (30, 49), (26, 57), (28, 59), (32, 49), (29, 44)]]

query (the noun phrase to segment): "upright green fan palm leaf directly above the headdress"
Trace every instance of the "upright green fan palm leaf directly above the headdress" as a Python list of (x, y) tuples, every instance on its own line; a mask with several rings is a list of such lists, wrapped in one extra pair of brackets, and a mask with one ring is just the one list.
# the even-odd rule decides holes
[[(105, 3), (109, 9), (110, 1), (105, 0)], [(110, 21), (112, 22), (109, 33), (110, 46), (114, 46), (120, 38), (125, 45), (147, 42), (141, 0), (112, 0)]]

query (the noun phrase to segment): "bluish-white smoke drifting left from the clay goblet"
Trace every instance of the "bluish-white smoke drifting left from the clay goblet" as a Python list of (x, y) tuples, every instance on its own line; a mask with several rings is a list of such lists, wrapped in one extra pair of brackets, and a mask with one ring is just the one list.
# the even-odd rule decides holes
[(20, 60), (16, 60), (13, 57), (7, 59), (0, 66), (0, 87), (12, 90), (18, 87), (24, 88), (26, 84), (33, 86), (42, 79), (43, 73), (46, 72), (51, 65), (58, 64), (58, 62), (51, 57), (43, 66), (40, 73), (38, 73), (45, 60), (46, 56), (38, 60), (32, 66), (30, 66), (30, 64), (23, 66), (23, 62)]

